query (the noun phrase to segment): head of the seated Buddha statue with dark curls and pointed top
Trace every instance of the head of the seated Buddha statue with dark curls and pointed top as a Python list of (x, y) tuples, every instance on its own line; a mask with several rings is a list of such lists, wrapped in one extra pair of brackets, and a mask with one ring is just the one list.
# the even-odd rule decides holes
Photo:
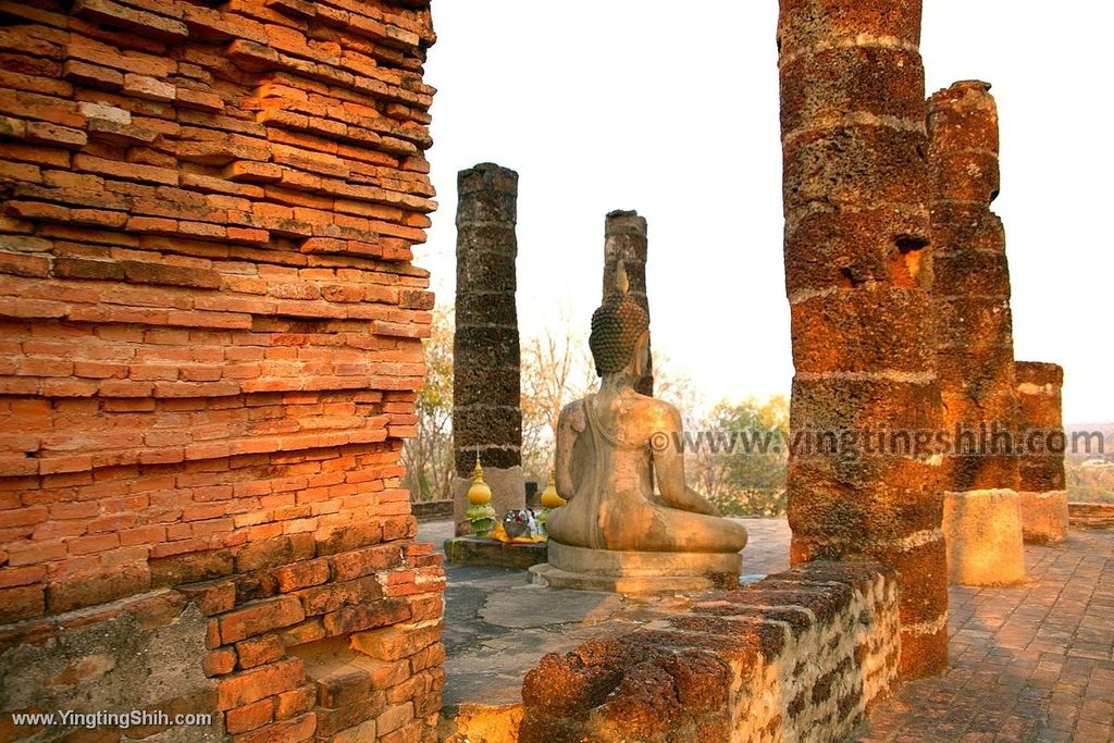
[(615, 291), (592, 314), (588, 348), (596, 373), (638, 380), (649, 365), (649, 315), (629, 294), (626, 266), (615, 272)]

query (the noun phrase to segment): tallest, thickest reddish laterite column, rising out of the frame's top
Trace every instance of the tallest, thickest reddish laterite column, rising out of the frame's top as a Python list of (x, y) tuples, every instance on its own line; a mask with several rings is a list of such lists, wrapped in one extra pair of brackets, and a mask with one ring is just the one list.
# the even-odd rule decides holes
[[(779, 22), (793, 433), (828, 437), (789, 462), (794, 564), (900, 570), (901, 673), (947, 665), (939, 466), (864, 430), (935, 430), (919, 0), (782, 0)], [(814, 440), (814, 437), (813, 437)], [(856, 446), (859, 444), (859, 446)]]

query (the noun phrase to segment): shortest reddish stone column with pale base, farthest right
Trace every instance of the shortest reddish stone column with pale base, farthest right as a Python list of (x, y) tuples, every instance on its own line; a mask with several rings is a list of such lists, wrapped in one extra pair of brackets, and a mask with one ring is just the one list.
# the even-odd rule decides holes
[(1064, 370), (1056, 364), (1018, 361), (1017, 426), (1024, 456), (1019, 461), (1022, 526), (1025, 541), (1067, 539), (1064, 452), (1067, 440), (1061, 412)]

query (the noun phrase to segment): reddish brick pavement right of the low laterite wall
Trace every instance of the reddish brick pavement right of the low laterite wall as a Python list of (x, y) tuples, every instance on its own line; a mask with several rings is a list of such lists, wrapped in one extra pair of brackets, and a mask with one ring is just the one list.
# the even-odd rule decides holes
[(1029, 580), (950, 590), (951, 667), (907, 684), (854, 740), (1114, 741), (1114, 532), (1026, 546)]

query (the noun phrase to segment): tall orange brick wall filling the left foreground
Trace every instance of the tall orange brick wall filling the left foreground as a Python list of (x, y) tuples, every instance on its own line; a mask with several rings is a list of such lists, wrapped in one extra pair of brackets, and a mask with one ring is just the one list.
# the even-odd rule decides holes
[(431, 730), (427, 4), (0, 7), (3, 712)]

